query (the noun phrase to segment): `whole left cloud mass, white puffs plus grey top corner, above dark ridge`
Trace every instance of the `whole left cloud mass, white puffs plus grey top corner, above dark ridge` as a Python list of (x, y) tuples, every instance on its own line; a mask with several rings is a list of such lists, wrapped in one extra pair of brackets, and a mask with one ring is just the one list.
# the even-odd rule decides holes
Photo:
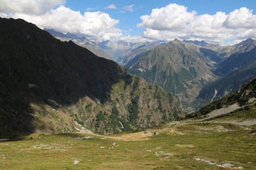
[[(39, 0), (11, 2), (15, 4), (15, 8), (12, 8), (6, 0), (0, 0), (1, 5), (5, 4), (5, 6), (1, 6), (0, 12), (9, 12), (9, 14), (0, 14), (0, 16), (15, 19), (22, 18), (38, 25), (40, 28), (75, 33), (90, 39), (112, 40), (122, 35), (121, 30), (117, 28), (119, 20), (110, 18), (109, 14), (105, 12), (97, 11), (81, 14), (80, 11), (73, 11), (63, 6), (63, 0), (49, 1), (51, 3), (48, 1), (43, 3)], [(59, 6), (53, 9), (57, 5)], [(35, 9), (30, 11), (32, 8)]]

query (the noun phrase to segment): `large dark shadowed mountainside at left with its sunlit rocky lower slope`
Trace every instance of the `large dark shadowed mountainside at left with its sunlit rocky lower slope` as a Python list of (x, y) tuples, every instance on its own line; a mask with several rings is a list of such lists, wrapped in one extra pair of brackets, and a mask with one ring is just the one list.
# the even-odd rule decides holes
[(113, 134), (184, 116), (161, 87), (34, 24), (0, 18), (0, 37), (0, 135)]

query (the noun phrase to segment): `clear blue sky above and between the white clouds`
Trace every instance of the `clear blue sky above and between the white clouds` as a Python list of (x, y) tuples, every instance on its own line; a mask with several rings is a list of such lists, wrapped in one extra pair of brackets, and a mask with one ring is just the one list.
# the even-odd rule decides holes
[[(247, 7), (253, 9), (253, 14), (256, 14), (256, 1), (254, 0), (181, 0), (181, 1), (167, 1), (167, 0), (129, 0), (129, 1), (83, 1), (83, 0), (67, 0), (65, 6), (75, 11), (84, 13), (85, 11), (104, 11), (108, 13), (112, 18), (118, 19), (120, 22), (118, 27), (122, 30), (129, 31), (131, 36), (140, 35), (144, 31), (143, 28), (137, 28), (137, 23), (141, 22), (140, 17), (142, 15), (148, 15), (154, 8), (161, 8), (169, 5), (170, 3), (177, 3), (188, 7), (188, 11), (195, 10), (197, 14), (210, 14), (213, 15), (217, 11), (232, 12), (240, 7)], [(117, 9), (108, 9), (106, 6), (114, 4)], [(123, 7), (134, 5), (133, 12), (121, 13)], [(86, 10), (88, 8), (92, 8)]]

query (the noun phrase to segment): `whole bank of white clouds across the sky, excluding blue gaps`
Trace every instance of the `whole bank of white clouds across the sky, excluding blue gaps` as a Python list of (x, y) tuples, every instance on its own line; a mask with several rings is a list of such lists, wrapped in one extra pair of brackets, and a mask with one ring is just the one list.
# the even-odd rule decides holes
[[(229, 14), (219, 11), (214, 15), (198, 15), (185, 6), (171, 3), (141, 16), (137, 27), (145, 29), (142, 35), (123, 36), (125, 30), (118, 28), (119, 20), (108, 13), (86, 11), (82, 14), (64, 5), (65, 0), (0, 0), (0, 16), (22, 18), (40, 28), (75, 33), (91, 40), (170, 41), (178, 38), (233, 44), (248, 37), (256, 39), (256, 15), (246, 7)], [(108, 8), (117, 7), (111, 4)], [(133, 12), (134, 5), (126, 6), (122, 11)]]

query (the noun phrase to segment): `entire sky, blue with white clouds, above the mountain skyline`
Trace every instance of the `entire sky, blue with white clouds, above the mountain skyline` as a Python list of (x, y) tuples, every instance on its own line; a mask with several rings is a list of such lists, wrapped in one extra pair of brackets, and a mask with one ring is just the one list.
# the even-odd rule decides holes
[(256, 40), (254, 0), (0, 0), (2, 18), (90, 40)]

